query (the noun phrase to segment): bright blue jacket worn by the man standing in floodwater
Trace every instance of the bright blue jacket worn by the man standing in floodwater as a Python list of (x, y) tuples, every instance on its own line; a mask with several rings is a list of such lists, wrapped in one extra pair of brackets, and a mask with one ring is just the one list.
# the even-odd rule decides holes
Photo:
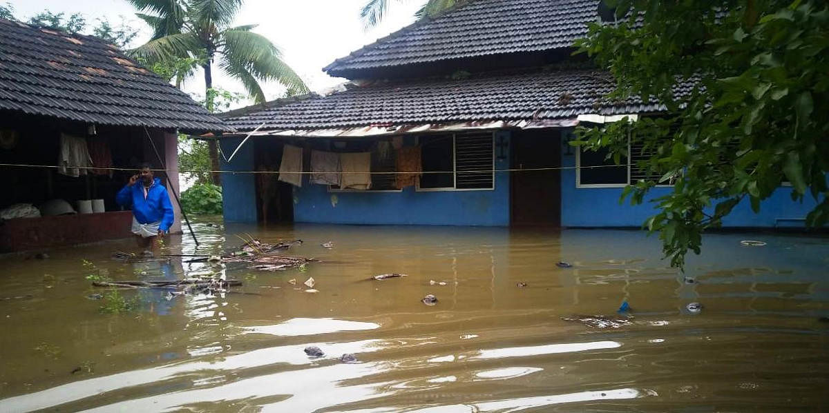
[(126, 185), (118, 191), (115, 201), (124, 207), (133, 207), (133, 215), (138, 223), (154, 223), (161, 221), (158, 229), (165, 233), (170, 229), (175, 215), (172, 213), (170, 195), (167, 188), (161, 185), (161, 180), (156, 178), (153, 185), (147, 191), (147, 199), (144, 199), (143, 182), (140, 180), (135, 185)]

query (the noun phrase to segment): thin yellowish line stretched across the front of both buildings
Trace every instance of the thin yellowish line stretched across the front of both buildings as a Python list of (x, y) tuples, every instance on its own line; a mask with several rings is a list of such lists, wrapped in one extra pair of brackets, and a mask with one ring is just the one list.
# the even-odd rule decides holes
[[(57, 169), (57, 168), (78, 168), (78, 169), (95, 169), (95, 170), (126, 170), (130, 172), (138, 171), (137, 168), (118, 168), (118, 167), (109, 167), (103, 168), (100, 166), (57, 166), (57, 165), (29, 165), (29, 164), (8, 164), (8, 163), (0, 163), (0, 167), (7, 166), (7, 167), (25, 167), (25, 168), (43, 168), (43, 169)], [(633, 166), (633, 164), (618, 164), (618, 165), (597, 165), (597, 166), (549, 166), (544, 168), (522, 168), (522, 169), (485, 169), (485, 170), (424, 170), (420, 172), (397, 172), (397, 171), (388, 171), (388, 172), (378, 172), (378, 171), (371, 171), (371, 172), (343, 172), (340, 170), (336, 171), (303, 171), (303, 172), (288, 172), (291, 174), (303, 174), (303, 175), (311, 175), (311, 174), (377, 174), (377, 175), (391, 175), (391, 174), (400, 174), (400, 175), (413, 175), (413, 174), (453, 174), (456, 172), (461, 173), (484, 173), (484, 172), (532, 172), (538, 170), (575, 170), (575, 169), (599, 169), (599, 168), (618, 168), (620, 166)], [(150, 169), (153, 172), (168, 172), (169, 170), (166, 169)], [(205, 174), (214, 174), (214, 173), (225, 173), (225, 174), (279, 174), (279, 170), (177, 170), (178, 173), (205, 173)], [(285, 172), (283, 172), (285, 173)]]

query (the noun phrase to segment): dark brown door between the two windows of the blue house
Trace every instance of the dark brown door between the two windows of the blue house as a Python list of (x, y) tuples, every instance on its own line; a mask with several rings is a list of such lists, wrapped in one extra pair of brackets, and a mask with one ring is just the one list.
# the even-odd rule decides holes
[(561, 166), (560, 130), (514, 132), (510, 152), (511, 224), (560, 227), (561, 171), (534, 170)]

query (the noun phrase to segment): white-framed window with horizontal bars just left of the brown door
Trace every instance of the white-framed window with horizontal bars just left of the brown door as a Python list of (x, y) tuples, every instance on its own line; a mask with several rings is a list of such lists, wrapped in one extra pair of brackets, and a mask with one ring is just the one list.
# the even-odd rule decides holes
[(492, 132), (421, 137), (418, 190), (494, 190)]

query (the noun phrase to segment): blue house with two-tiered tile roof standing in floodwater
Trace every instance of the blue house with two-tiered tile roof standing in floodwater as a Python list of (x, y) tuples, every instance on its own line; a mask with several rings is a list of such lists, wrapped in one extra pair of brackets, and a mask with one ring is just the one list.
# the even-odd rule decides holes
[[(468, 2), (328, 65), (351, 79), (344, 91), (225, 114), (242, 132), (221, 137), (225, 154), (238, 148), (222, 165), (239, 171), (222, 176), (225, 220), (639, 227), (652, 205), (618, 202), (647, 178), (637, 160), (608, 166), (604, 153), (568, 144), (579, 123), (662, 110), (604, 99), (610, 74), (572, 55), (598, 5)], [(760, 214), (739, 205), (725, 225), (801, 226), (815, 204), (790, 191)]]

